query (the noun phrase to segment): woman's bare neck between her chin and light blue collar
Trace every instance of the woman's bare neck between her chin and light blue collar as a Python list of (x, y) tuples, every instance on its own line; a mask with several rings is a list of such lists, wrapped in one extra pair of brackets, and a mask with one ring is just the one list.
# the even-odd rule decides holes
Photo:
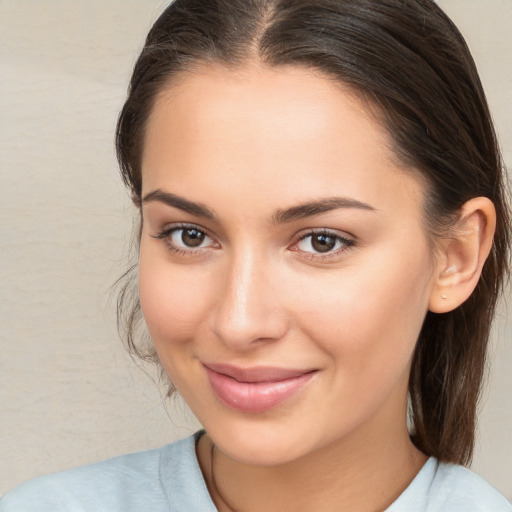
[[(399, 434), (399, 435), (398, 435)], [(220, 512), (377, 512), (405, 490), (427, 457), (403, 432), (344, 440), (277, 466), (237, 462), (205, 435), (198, 458)], [(387, 442), (385, 440), (388, 440)]]

